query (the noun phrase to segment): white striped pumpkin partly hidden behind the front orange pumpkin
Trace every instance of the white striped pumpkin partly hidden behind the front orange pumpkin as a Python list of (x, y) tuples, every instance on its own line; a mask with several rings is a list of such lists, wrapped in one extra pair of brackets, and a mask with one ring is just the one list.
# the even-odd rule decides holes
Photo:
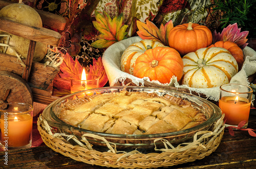
[(135, 42), (127, 47), (121, 57), (121, 71), (129, 74), (133, 74), (133, 69), (136, 59), (143, 54), (147, 49), (155, 47), (163, 47), (164, 45), (160, 42), (152, 41), (150, 39), (144, 39), (140, 42)]

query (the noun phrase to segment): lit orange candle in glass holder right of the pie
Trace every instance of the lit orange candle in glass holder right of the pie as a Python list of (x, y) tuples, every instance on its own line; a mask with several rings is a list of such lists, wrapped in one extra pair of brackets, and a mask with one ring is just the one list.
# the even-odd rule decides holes
[(226, 84), (220, 86), (219, 107), (225, 114), (224, 121), (227, 125), (238, 126), (242, 121), (247, 128), (252, 98), (252, 89), (245, 85)]

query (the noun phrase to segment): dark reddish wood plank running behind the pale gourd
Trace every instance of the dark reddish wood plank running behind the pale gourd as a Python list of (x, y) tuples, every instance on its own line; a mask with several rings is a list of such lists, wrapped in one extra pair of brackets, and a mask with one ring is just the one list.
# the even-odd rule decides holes
[[(0, 10), (12, 3), (13, 2), (0, 0)], [(65, 29), (67, 21), (62, 16), (42, 10), (36, 10), (36, 12), (40, 15), (43, 25), (50, 26), (51, 28), (59, 31), (63, 31)]]

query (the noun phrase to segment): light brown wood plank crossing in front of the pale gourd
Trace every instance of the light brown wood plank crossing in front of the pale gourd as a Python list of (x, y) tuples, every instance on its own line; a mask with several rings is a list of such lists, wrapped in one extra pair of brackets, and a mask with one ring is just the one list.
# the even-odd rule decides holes
[(56, 31), (44, 27), (29, 26), (3, 17), (0, 17), (0, 23), (0, 31), (52, 46), (58, 46), (61, 38), (61, 35)]

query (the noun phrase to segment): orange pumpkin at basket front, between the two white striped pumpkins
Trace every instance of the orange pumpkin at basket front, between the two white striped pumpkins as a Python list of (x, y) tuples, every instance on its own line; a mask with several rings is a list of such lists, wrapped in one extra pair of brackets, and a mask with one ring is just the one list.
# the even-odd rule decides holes
[(183, 73), (183, 61), (177, 50), (170, 47), (155, 47), (141, 54), (134, 66), (133, 75), (148, 77), (161, 83), (169, 83), (173, 76), (179, 81)]

